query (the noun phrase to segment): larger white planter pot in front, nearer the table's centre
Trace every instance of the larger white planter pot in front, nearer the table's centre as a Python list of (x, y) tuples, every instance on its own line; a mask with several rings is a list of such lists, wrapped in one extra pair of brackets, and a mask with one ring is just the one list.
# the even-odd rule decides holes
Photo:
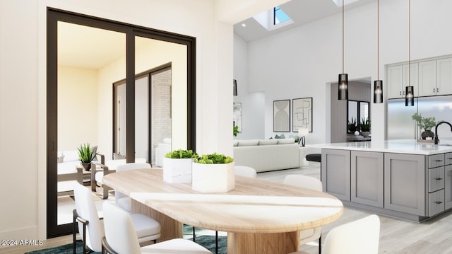
[(234, 162), (227, 164), (193, 163), (191, 188), (198, 192), (228, 192), (235, 187)]

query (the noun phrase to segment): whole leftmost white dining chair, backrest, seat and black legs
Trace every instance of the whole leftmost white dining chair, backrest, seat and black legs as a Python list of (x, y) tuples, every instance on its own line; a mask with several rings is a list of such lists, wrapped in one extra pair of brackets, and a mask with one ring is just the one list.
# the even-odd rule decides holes
[[(102, 237), (105, 236), (104, 225), (99, 219), (97, 209), (94, 204), (93, 194), (79, 183), (74, 185), (74, 196), (76, 200), (76, 209), (73, 210), (73, 248), (76, 247), (76, 222), (78, 222), (78, 231), (83, 239), (83, 251), (88, 246), (91, 250), (100, 252), (102, 250)], [(104, 203), (109, 203), (105, 201)], [(124, 211), (125, 212), (125, 211)], [(128, 214), (135, 225), (137, 241), (145, 243), (155, 241), (160, 238), (160, 224), (154, 219), (144, 214)]]

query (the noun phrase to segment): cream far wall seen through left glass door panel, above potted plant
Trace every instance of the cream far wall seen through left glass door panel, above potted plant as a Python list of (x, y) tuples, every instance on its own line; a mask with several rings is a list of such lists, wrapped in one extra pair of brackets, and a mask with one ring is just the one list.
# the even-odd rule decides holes
[(58, 150), (97, 146), (97, 71), (58, 68)]

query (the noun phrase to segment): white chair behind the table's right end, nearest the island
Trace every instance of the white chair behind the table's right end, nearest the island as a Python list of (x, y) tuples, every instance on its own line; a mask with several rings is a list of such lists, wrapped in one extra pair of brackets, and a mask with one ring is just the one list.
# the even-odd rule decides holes
[[(297, 187), (304, 187), (310, 190), (322, 191), (322, 182), (309, 175), (286, 175), (283, 183), (285, 185), (292, 185)], [(319, 239), (319, 254), (322, 252), (322, 236), (321, 227), (314, 229), (306, 229), (299, 232), (299, 244), (303, 245), (311, 241)]]

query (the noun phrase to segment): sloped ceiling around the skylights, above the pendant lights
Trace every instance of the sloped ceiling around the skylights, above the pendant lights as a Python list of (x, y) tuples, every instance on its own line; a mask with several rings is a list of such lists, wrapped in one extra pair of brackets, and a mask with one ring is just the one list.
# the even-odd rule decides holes
[[(345, 1), (345, 11), (350, 8), (369, 4), (376, 0), (358, 0), (351, 4)], [(287, 13), (294, 21), (290, 25), (285, 25), (281, 28), (268, 31), (263, 28), (254, 18), (247, 18), (246, 20), (234, 25), (234, 33), (242, 37), (245, 41), (258, 40), (268, 35), (280, 33), (283, 30), (295, 28), (298, 25), (304, 25), (313, 21), (318, 21), (322, 18), (332, 16), (342, 11), (342, 6), (337, 6), (331, 0), (292, 0), (280, 5), (280, 8)], [(258, 13), (256, 13), (258, 14)], [(242, 26), (246, 24), (246, 27)]]

